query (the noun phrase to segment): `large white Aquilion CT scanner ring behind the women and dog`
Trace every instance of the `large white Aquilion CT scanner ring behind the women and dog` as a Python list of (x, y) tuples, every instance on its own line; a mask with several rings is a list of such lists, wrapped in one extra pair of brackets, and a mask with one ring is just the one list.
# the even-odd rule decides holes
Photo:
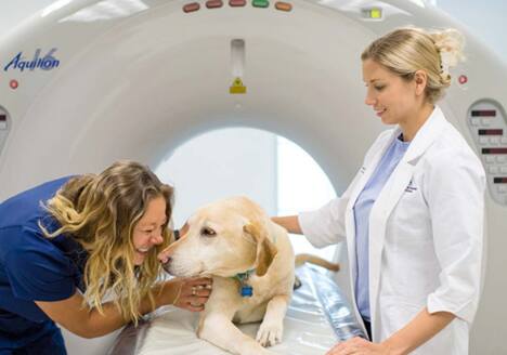
[(487, 266), (470, 353), (506, 354), (502, 63), (421, 0), (193, 1), (60, 0), (1, 38), (0, 200), (120, 158), (155, 167), (190, 137), (230, 126), (297, 142), (340, 193), (384, 129), (363, 104), (364, 47), (399, 26), (459, 28), (468, 60), (441, 107), (489, 182)]

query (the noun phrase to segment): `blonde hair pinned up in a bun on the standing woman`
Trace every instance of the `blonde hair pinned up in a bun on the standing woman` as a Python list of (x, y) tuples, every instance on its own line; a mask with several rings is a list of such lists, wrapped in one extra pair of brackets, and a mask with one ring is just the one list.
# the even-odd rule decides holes
[(463, 47), (464, 37), (456, 29), (400, 28), (373, 41), (361, 60), (372, 60), (408, 81), (417, 70), (426, 71), (426, 98), (434, 104), (451, 86), (448, 69), (464, 60)]

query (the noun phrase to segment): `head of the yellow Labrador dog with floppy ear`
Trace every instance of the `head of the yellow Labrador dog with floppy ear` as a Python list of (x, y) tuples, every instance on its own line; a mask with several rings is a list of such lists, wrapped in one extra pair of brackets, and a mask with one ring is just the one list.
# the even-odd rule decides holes
[(199, 209), (187, 232), (160, 253), (165, 269), (181, 277), (222, 276), (256, 269), (268, 272), (276, 250), (268, 238), (268, 215), (239, 197)]

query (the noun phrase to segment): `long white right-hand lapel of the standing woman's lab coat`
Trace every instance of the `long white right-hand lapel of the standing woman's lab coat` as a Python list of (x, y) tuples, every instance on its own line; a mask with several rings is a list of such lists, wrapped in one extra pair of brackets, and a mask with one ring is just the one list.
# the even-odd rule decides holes
[[(437, 106), (428, 120), (417, 132), (407, 152), (381, 189), (369, 215), (369, 306), (372, 317), (377, 316), (381, 254), (386, 238), (387, 222), (398, 201), (410, 184), (416, 163), (427, 148), (434, 142), (446, 124), (445, 118)], [(400, 134), (398, 130), (396, 136)], [(392, 142), (392, 141), (391, 141)], [(372, 319), (372, 320), (374, 320)], [(372, 323), (375, 325), (375, 321)]]

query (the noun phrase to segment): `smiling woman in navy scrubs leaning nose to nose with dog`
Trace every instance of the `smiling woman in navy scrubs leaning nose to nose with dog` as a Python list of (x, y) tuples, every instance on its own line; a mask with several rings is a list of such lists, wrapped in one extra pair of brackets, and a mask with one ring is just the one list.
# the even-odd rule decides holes
[(0, 355), (66, 354), (56, 324), (94, 338), (161, 305), (204, 310), (210, 279), (157, 282), (172, 193), (146, 167), (119, 161), (3, 201)]

